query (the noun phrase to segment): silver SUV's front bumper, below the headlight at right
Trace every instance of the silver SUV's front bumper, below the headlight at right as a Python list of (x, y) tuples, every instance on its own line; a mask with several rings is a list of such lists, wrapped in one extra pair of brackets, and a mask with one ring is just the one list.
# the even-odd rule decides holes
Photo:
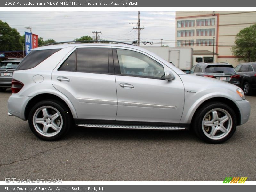
[(241, 114), (241, 122), (239, 125), (245, 124), (251, 113), (251, 104), (247, 100), (235, 101), (236, 106), (238, 107)]

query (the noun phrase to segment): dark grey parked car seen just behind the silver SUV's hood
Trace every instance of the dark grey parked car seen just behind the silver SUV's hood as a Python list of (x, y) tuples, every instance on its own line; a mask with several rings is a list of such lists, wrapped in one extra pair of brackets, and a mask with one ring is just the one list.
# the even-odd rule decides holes
[(191, 68), (190, 73), (198, 76), (212, 77), (240, 86), (238, 73), (228, 63), (198, 63)]

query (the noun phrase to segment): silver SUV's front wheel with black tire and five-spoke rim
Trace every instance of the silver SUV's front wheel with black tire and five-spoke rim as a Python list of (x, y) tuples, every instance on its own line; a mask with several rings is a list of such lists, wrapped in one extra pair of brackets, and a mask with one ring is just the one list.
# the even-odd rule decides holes
[[(225, 119), (227, 120), (225, 121)], [(210, 126), (206, 126), (208, 124)], [(201, 106), (196, 111), (192, 122), (196, 135), (213, 144), (228, 140), (236, 131), (236, 125), (237, 119), (234, 110), (220, 102), (206, 103)]]

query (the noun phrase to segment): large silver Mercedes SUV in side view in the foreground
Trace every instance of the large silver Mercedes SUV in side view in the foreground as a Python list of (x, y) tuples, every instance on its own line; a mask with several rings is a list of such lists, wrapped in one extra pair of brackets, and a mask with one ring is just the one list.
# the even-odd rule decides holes
[(74, 125), (193, 129), (206, 142), (228, 140), (246, 123), (239, 87), (188, 75), (143, 48), (68, 43), (34, 49), (12, 79), (8, 114), (28, 120), (39, 138), (57, 140)]

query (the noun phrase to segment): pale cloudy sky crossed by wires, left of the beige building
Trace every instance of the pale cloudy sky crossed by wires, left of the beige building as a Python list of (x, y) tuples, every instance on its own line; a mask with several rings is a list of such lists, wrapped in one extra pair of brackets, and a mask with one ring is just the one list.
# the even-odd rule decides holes
[[(138, 39), (138, 11), (0, 11), (0, 20), (16, 28), (20, 35), (31, 27), (32, 33), (44, 40), (72, 41), (81, 36), (132, 43)], [(140, 42), (152, 46), (174, 46), (175, 11), (140, 11)], [(141, 44), (143, 45), (143, 44)], [(150, 46), (147, 44), (147, 46)]]

